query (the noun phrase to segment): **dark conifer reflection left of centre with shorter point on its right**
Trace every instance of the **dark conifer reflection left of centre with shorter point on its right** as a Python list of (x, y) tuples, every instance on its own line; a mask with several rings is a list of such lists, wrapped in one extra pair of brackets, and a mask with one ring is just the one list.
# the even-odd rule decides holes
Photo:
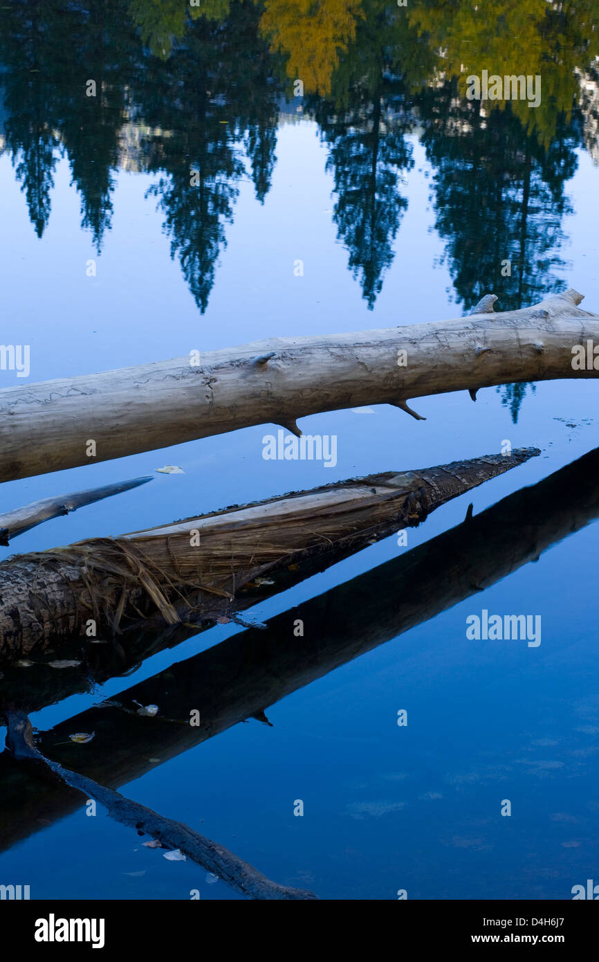
[(160, 179), (150, 192), (159, 198), (171, 255), (179, 258), (202, 313), (245, 172), (244, 135), (260, 200), (275, 160), (278, 91), (267, 83), (258, 19), (253, 4), (234, 3), (220, 23), (201, 18), (188, 24), (168, 69), (157, 60), (148, 63), (138, 98), (146, 121), (168, 132), (153, 138), (148, 169)]

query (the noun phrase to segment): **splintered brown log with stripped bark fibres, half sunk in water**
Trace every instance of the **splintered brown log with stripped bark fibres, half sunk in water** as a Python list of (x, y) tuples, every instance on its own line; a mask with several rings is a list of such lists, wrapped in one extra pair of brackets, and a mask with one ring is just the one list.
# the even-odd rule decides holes
[[(235, 611), (238, 591), (314, 555), (413, 526), (429, 512), (537, 455), (520, 448), (365, 478), (49, 551), (0, 565), (0, 658), (58, 637), (117, 632), (156, 615), (176, 624)], [(54, 641), (53, 641), (54, 644)]]

